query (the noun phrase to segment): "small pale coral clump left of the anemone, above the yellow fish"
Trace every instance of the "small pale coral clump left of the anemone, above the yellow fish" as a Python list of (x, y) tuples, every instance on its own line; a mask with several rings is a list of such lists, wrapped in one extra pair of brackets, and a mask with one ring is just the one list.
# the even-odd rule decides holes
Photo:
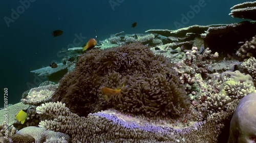
[(30, 105), (40, 105), (41, 103), (45, 103), (50, 101), (52, 93), (56, 90), (58, 84), (46, 85), (38, 88), (33, 88), (29, 91), (27, 99), (22, 99), (21, 101), (24, 104)]

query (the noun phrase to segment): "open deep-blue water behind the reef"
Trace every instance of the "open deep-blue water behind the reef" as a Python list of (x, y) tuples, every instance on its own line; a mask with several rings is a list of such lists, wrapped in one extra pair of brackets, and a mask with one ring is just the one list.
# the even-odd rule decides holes
[[(25, 6), (28, 7), (25, 8), (21, 2), (27, 2)], [(184, 26), (239, 22), (240, 19), (231, 18), (228, 14), (230, 7), (243, 2), (245, 1), (1, 1), (1, 94), (3, 88), (8, 88), (9, 103), (19, 102), (22, 93), (31, 88), (27, 83), (36, 86), (43, 81), (38, 80), (30, 71), (48, 66), (52, 61), (60, 61), (63, 56), (58, 51), (72, 47), (70, 44), (76, 38), (75, 35), (87, 37), (75, 45), (81, 46), (89, 38), (98, 36), (98, 40), (103, 40), (110, 34), (121, 31), (132, 34), (144, 33), (152, 28), (175, 30), (177, 26), (174, 23), (181, 23), (182, 14), (187, 15), (191, 12), (191, 7), (195, 8), (199, 3), (202, 7), (194, 15), (190, 15)], [(12, 17), (12, 9), (18, 16)], [(11, 22), (6, 22), (8, 18), (12, 19)], [(135, 28), (131, 28), (133, 22), (138, 23)], [(51, 33), (57, 29), (62, 30), (63, 34), (53, 37)]]

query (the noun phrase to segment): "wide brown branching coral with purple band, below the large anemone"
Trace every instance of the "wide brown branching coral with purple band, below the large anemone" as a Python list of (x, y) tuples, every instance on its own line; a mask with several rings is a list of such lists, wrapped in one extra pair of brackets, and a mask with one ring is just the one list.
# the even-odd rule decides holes
[[(45, 103), (37, 107), (40, 127), (63, 132), (72, 142), (217, 142), (225, 129), (238, 100), (205, 121), (174, 126), (167, 119), (132, 116), (109, 109), (90, 114), (87, 118), (72, 113), (64, 103)], [(223, 141), (223, 140), (222, 140)]]

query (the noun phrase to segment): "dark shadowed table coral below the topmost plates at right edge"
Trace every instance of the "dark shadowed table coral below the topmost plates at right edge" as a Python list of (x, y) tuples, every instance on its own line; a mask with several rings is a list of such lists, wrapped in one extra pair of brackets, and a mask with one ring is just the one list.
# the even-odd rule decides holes
[(209, 47), (211, 51), (232, 55), (234, 49), (239, 46), (239, 42), (255, 36), (255, 25), (255, 22), (243, 21), (223, 26), (213, 26), (209, 27), (204, 34), (201, 34), (201, 37), (204, 39), (205, 46)]

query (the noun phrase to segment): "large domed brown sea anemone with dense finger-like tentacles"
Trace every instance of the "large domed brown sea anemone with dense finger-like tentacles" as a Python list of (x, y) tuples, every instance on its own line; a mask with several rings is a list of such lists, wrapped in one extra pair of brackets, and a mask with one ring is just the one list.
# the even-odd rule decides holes
[[(103, 87), (121, 88), (121, 93), (106, 99)], [(66, 103), (79, 116), (110, 107), (176, 116), (190, 105), (170, 61), (139, 43), (81, 55), (75, 70), (60, 81), (52, 101)]]

